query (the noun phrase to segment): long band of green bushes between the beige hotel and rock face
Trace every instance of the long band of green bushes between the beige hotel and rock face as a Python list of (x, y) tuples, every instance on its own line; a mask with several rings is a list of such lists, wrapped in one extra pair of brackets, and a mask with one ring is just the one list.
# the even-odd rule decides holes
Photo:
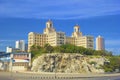
[(112, 56), (112, 53), (108, 51), (96, 51), (72, 44), (64, 44), (56, 47), (50, 44), (45, 44), (44, 47), (33, 45), (31, 47), (31, 53), (32, 58), (42, 53), (79, 53), (82, 55)]

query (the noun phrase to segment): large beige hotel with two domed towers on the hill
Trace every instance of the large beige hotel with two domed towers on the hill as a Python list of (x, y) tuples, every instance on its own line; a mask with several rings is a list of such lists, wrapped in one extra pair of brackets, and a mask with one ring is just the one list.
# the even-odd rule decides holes
[(74, 32), (71, 37), (67, 37), (64, 32), (56, 32), (51, 20), (46, 22), (46, 28), (43, 34), (30, 32), (28, 34), (28, 52), (32, 45), (44, 46), (49, 43), (51, 46), (60, 46), (63, 44), (73, 44), (76, 46), (82, 46), (85, 48), (94, 49), (94, 37), (83, 36), (80, 32), (80, 26), (74, 26)]

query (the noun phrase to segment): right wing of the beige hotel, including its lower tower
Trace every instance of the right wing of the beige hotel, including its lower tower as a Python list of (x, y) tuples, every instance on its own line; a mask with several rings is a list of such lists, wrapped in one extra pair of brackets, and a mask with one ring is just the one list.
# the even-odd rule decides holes
[(74, 26), (72, 37), (66, 37), (66, 43), (94, 49), (94, 37), (82, 36), (82, 32), (80, 32), (80, 27), (78, 25)]

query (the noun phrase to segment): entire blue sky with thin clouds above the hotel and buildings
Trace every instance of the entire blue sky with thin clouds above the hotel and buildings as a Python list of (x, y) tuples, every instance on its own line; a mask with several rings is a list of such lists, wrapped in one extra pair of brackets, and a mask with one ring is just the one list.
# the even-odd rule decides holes
[(0, 51), (43, 33), (48, 19), (67, 36), (76, 24), (83, 35), (101, 35), (106, 50), (120, 55), (120, 0), (0, 0)]

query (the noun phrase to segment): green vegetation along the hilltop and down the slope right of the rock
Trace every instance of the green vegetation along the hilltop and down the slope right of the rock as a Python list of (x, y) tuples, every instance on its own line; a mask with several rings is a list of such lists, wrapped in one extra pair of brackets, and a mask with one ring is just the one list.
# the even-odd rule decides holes
[[(105, 70), (105, 72), (114, 72), (116, 69), (120, 70), (120, 57), (112, 55), (112, 52), (108, 51), (96, 51), (92, 49), (86, 49), (84, 47), (78, 47), (71, 44), (65, 44), (61, 46), (52, 47), (49, 44), (45, 44), (44, 47), (35, 46), (31, 47), (32, 60), (36, 59), (38, 56), (42, 54), (54, 54), (54, 53), (68, 53), (68, 54), (80, 54), (84, 56), (90, 57), (105, 57), (108, 59), (108, 62), (105, 62), (104, 65), (101, 65), (101, 68)], [(91, 64), (94, 63), (91, 62)], [(94, 63), (95, 64), (95, 63)]]

